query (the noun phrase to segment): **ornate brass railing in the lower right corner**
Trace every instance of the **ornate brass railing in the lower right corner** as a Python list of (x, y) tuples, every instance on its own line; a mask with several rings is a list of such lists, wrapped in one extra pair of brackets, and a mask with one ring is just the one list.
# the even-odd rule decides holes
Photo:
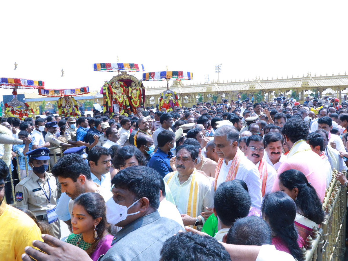
[[(346, 242), (347, 188), (335, 180), (337, 171), (333, 169), (332, 180), (326, 189), (323, 209), (324, 221), (319, 229), (313, 228), (312, 236), (306, 239), (306, 248), (302, 247), (306, 261), (343, 260)], [(343, 171), (347, 177), (347, 172)]]

